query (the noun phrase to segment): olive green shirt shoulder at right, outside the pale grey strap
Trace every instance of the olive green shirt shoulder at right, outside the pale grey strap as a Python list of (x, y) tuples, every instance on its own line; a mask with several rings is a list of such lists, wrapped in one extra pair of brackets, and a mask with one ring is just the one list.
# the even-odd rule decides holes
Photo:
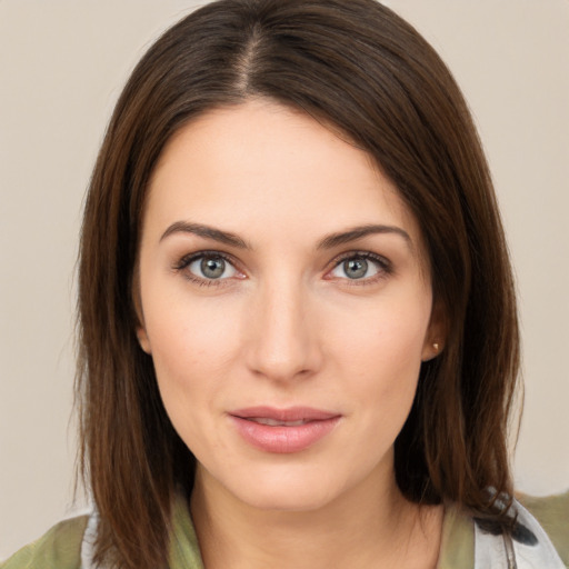
[(569, 567), (569, 491), (536, 498), (519, 495), (518, 500), (539, 521), (563, 563)]

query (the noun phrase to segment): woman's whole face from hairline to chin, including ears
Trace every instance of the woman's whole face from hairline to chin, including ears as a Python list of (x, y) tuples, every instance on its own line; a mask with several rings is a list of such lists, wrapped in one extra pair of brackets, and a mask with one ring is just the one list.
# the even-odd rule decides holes
[(269, 101), (186, 126), (149, 188), (138, 337), (199, 479), (281, 510), (392, 483), (429, 283), (417, 221), (331, 130)]

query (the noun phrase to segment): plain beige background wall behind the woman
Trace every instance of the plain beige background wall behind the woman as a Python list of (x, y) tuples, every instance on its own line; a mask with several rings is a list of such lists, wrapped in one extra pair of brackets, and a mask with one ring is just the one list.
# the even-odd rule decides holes
[[(390, 0), (455, 71), (518, 276), (521, 490), (569, 487), (569, 1)], [(0, 559), (72, 506), (81, 202), (127, 73), (190, 0), (0, 0)]]

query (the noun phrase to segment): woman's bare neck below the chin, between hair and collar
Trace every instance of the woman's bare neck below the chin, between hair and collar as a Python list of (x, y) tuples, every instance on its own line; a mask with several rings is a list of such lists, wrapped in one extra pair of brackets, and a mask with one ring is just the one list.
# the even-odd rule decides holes
[(442, 508), (406, 500), (395, 476), (309, 511), (263, 510), (198, 469), (191, 512), (207, 569), (436, 567)]

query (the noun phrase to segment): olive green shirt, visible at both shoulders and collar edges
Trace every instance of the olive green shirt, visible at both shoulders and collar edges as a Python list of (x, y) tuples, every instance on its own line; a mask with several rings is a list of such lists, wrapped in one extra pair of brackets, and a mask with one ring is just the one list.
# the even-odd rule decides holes
[[(540, 522), (569, 568), (569, 492), (550, 498), (521, 497), (520, 501)], [(87, 522), (88, 517), (82, 516), (58, 523), (42, 538), (0, 563), (0, 569), (80, 569)], [(437, 569), (473, 569), (473, 523), (459, 508), (446, 509)], [(176, 505), (173, 512), (169, 566), (171, 569), (203, 569), (196, 531), (181, 502)]]

